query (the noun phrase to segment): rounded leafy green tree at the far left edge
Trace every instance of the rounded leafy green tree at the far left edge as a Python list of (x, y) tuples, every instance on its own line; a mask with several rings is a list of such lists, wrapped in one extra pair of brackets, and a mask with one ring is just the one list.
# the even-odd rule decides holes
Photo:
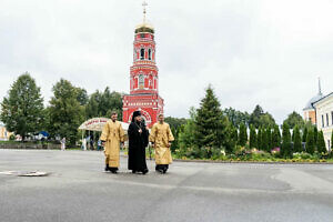
[(40, 88), (28, 72), (21, 74), (11, 85), (8, 97), (1, 102), (0, 120), (6, 128), (20, 134), (22, 140), (42, 129), (43, 99)]

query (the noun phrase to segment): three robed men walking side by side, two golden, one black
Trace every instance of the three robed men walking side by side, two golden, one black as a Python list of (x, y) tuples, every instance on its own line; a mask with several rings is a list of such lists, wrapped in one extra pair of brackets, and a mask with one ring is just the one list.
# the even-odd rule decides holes
[[(117, 120), (117, 112), (111, 113), (111, 120), (103, 128), (100, 140), (104, 147), (105, 171), (117, 173), (119, 169), (120, 144), (124, 143), (124, 131)], [(155, 153), (155, 170), (165, 173), (171, 158), (171, 142), (174, 140), (170, 125), (164, 122), (164, 115), (159, 114), (159, 121), (153, 124), (151, 132), (141, 117), (140, 111), (134, 111), (132, 122), (128, 129), (129, 137), (129, 170), (132, 173), (145, 174), (149, 172), (145, 162), (145, 148), (151, 142)]]

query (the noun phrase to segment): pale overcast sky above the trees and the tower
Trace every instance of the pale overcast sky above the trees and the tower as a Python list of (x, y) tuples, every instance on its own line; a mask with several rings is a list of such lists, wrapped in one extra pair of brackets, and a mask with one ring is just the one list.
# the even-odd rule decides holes
[[(165, 114), (188, 117), (211, 83), (222, 108), (282, 122), (333, 91), (332, 0), (148, 0)], [(0, 100), (28, 71), (52, 85), (129, 92), (142, 0), (0, 0)]]

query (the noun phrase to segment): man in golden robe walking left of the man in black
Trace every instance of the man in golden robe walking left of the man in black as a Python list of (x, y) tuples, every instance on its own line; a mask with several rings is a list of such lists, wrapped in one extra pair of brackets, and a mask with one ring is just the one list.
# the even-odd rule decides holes
[(117, 118), (117, 112), (112, 112), (111, 120), (104, 125), (100, 138), (104, 147), (105, 171), (111, 171), (112, 173), (118, 171), (120, 143), (124, 142), (124, 132)]

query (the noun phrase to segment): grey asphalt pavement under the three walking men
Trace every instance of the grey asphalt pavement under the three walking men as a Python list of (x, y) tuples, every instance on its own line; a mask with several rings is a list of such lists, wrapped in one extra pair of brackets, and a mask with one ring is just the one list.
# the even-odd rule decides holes
[(174, 162), (103, 172), (97, 151), (0, 150), (0, 222), (333, 221), (333, 165)]

